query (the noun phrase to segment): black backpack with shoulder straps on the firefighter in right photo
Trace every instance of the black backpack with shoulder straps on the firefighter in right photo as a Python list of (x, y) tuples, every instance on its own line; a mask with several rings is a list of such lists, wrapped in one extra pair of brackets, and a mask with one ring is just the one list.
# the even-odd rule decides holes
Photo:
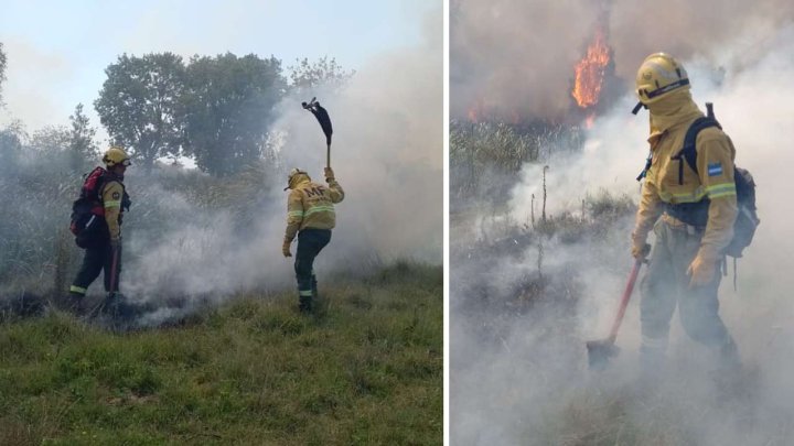
[[(684, 148), (673, 156), (673, 160), (678, 160), (678, 183), (684, 184), (684, 163), (686, 163), (698, 174), (697, 168), (697, 150), (695, 142), (698, 133), (701, 130), (708, 129), (709, 127), (717, 127), (720, 130), (722, 126), (717, 121), (713, 113), (713, 105), (706, 102), (707, 116), (700, 117), (687, 129), (686, 135), (684, 137)], [(645, 172), (651, 167), (651, 156), (648, 156), (645, 164), (645, 170), (640, 174), (637, 181), (645, 176)], [(737, 188), (737, 207), (739, 213), (737, 219), (733, 222), (733, 238), (730, 243), (725, 248), (723, 253), (732, 258), (742, 257), (744, 248), (749, 247), (752, 242), (752, 238), (755, 235), (755, 228), (758, 228), (761, 220), (758, 218), (758, 209), (755, 207), (755, 181), (752, 174), (741, 167), (733, 167), (733, 181)], [(708, 208), (700, 209), (701, 213), (708, 213)], [(702, 217), (706, 217), (704, 215)]]

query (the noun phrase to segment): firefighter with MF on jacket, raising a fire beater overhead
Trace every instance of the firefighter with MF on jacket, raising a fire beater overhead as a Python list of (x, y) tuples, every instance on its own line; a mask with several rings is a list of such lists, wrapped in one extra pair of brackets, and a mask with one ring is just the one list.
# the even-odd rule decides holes
[(297, 235), (294, 270), (299, 308), (303, 313), (312, 311), (312, 297), (316, 296), (314, 258), (331, 241), (331, 229), (336, 225), (333, 205), (344, 199), (344, 191), (331, 167), (325, 167), (325, 182), (328, 187), (313, 183), (309, 174), (300, 168), (293, 168), (285, 188), (290, 189), (290, 194), (287, 202), (287, 233), (281, 252), (285, 257), (292, 257), (290, 244)]

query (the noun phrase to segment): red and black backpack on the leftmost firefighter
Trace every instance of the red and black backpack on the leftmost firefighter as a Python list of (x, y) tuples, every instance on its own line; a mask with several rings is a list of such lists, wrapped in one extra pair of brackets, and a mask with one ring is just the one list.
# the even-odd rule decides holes
[(83, 248), (90, 248), (109, 237), (105, 221), (105, 207), (99, 196), (105, 185), (103, 167), (96, 167), (85, 175), (79, 198), (72, 204), (72, 221), (69, 230), (75, 235), (75, 243)]

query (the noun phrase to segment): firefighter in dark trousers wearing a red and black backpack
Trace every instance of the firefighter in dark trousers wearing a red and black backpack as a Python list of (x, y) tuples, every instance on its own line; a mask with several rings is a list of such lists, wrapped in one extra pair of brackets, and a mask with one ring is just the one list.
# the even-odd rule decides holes
[[(83, 185), (82, 198), (92, 203), (92, 217), (77, 235), (85, 248), (83, 264), (69, 287), (69, 305), (79, 312), (88, 286), (105, 271), (107, 302), (119, 305), (121, 272), (121, 219), (130, 199), (125, 189), (124, 175), (131, 164), (124, 149), (111, 146), (103, 156), (105, 168), (96, 167)], [(82, 238), (82, 241), (81, 241)]]

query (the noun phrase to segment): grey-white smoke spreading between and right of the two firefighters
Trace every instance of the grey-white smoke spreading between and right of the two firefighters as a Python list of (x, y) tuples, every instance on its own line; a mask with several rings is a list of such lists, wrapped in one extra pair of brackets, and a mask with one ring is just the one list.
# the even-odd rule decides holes
[[(333, 121), (331, 165), (346, 194), (336, 205), (332, 241), (315, 263), (320, 282), (382, 261), (442, 262), (441, 23), (439, 9), (426, 18), (421, 45), (383, 54), (342, 90), (311, 93)], [(279, 148), (282, 175), (260, 178), (269, 192), (239, 197), (251, 221), (240, 225), (230, 215), (206, 215), (185, 197), (167, 197), (190, 222), (175, 225), (157, 244), (135, 235), (140, 244), (131, 250), (141, 254), (125, 273), (126, 293), (149, 303), (168, 292), (197, 302), (293, 285), (293, 259), (281, 255), (287, 172), (301, 167), (324, 183), (325, 137), (300, 106), (309, 99), (290, 97), (278, 106), (273, 131), (288, 135)], [(139, 181), (144, 178), (127, 182), (133, 200)]]

